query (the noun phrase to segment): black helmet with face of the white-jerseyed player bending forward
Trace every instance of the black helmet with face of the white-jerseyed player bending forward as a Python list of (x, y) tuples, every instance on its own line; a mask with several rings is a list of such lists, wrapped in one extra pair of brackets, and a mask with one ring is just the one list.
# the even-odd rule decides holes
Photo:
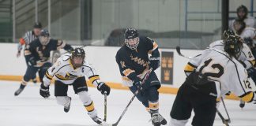
[(85, 50), (81, 47), (75, 48), (71, 52), (71, 63), (73, 67), (79, 68), (81, 67), (85, 62)]

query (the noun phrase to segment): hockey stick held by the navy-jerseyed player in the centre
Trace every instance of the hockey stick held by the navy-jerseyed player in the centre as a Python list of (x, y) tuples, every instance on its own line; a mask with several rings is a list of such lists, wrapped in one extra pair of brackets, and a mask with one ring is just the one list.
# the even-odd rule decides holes
[[(152, 69), (149, 69), (149, 72), (145, 75), (144, 79), (141, 82), (141, 85), (145, 83), (145, 80), (148, 80), (149, 78), (149, 74), (152, 72)], [(115, 122), (115, 124), (110, 124), (110, 126), (117, 126), (119, 124), (119, 121), (122, 119), (123, 115), (126, 113), (126, 110), (128, 109), (128, 107), (130, 106), (130, 103), (134, 101), (134, 98), (136, 97), (136, 95), (138, 94), (140, 89), (138, 89), (135, 93), (134, 96), (130, 99), (130, 102), (128, 103), (128, 105), (126, 106), (126, 108), (122, 111), (121, 116), (119, 117), (119, 120), (117, 120)]]

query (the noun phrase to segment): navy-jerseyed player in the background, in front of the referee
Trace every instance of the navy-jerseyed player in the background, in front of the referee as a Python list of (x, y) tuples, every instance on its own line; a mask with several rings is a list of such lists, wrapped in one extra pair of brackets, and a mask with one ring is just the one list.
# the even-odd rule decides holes
[(73, 47), (69, 44), (62, 42), (58, 39), (50, 39), (50, 34), (47, 30), (42, 30), (40, 37), (29, 43), (24, 50), (26, 61), (28, 61), (28, 68), (21, 81), (20, 87), (15, 91), (14, 95), (20, 95), (24, 90), (29, 80), (36, 76), (36, 72), (39, 72), (40, 82), (43, 81), (43, 76), (48, 68), (51, 67), (50, 53), (51, 50), (73, 50)]

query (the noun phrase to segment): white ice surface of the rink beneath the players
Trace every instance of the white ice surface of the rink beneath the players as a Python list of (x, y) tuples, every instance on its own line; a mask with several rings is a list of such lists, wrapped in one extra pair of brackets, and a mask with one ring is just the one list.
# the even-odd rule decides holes
[[(0, 81), (0, 125), (1, 126), (94, 126), (96, 125), (88, 117), (84, 106), (82, 106), (78, 95), (73, 94), (70, 87), (68, 95), (72, 97), (69, 113), (63, 111), (62, 106), (58, 106), (54, 97), (54, 86), (51, 85), (51, 97), (42, 98), (39, 95), (40, 84), (28, 83), (21, 95), (15, 97), (14, 91), (19, 87), (17, 81)], [(104, 96), (96, 88), (89, 87), (89, 94), (92, 97), (99, 116), (104, 117)], [(111, 90), (111, 95), (107, 98), (107, 123), (114, 123), (122, 113), (132, 94), (130, 91)], [(172, 102), (175, 95), (160, 94), (160, 113), (169, 121)], [(244, 109), (239, 108), (238, 101), (225, 100), (228, 113), (234, 126), (255, 126), (256, 106), (246, 104)], [(224, 113), (224, 108), (220, 105), (220, 112)], [(125, 116), (120, 121), (120, 126), (149, 126), (150, 116), (145, 111), (137, 99), (130, 105)], [(187, 125), (191, 125), (191, 120)], [(224, 126), (220, 117), (216, 115), (214, 125)]]

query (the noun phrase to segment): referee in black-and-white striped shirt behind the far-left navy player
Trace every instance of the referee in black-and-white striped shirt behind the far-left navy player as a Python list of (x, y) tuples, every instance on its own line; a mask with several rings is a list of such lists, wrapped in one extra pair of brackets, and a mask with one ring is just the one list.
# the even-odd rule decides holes
[[(24, 36), (20, 39), (20, 42), (18, 43), (17, 57), (21, 56), (21, 50), (23, 45), (24, 45), (24, 55), (28, 53), (28, 50), (26, 50), (27, 48), (29, 48), (28, 44), (31, 43), (34, 39), (37, 39), (39, 37), (41, 30), (42, 30), (42, 24), (40, 22), (36, 22), (34, 24), (34, 29), (32, 31), (27, 31), (24, 34)], [(26, 64), (28, 66), (27, 60), (26, 60)], [(33, 77), (32, 81), (33, 83), (36, 83), (36, 76)]]

